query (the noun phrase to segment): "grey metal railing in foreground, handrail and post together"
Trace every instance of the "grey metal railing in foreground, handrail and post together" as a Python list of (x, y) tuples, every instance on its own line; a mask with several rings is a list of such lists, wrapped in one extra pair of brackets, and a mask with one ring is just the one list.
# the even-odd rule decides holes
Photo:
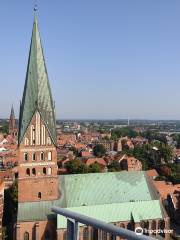
[(110, 233), (116, 237), (122, 237), (128, 240), (154, 240), (155, 238), (145, 235), (137, 235), (135, 232), (117, 227), (113, 224), (105, 223), (95, 218), (87, 217), (85, 215), (72, 212), (65, 208), (53, 207), (52, 212), (60, 214), (67, 218), (67, 240), (79, 240), (79, 228), (78, 223), (83, 223), (86, 226), (92, 226), (95, 229), (103, 230), (106, 233)]

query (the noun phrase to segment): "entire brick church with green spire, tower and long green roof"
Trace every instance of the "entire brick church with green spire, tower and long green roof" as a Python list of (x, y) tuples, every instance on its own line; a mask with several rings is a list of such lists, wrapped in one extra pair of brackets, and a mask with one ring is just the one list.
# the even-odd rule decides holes
[[(66, 240), (66, 219), (53, 214), (52, 206), (129, 230), (137, 226), (169, 229), (169, 218), (145, 172), (57, 175), (54, 102), (36, 16), (20, 105), (18, 149), (14, 239)], [(168, 235), (163, 238), (168, 239)], [(113, 238), (80, 225), (80, 239)]]

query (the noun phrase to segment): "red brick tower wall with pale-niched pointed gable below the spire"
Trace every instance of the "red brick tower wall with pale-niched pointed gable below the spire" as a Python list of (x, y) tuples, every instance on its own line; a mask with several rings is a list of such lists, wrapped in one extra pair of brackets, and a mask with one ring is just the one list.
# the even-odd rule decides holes
[(18, 192), (18, 202), (59, 197), (57, 151), (38, 112), (19, 146)]

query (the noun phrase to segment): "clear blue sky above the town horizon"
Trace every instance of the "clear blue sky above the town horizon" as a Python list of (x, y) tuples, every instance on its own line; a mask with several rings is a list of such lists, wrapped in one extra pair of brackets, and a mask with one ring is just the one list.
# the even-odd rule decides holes
[[(19, 114), (32, 0), (0, 5), (0, 117)], [(38, 0), (57, 118), (180, 119), (179, 0)]]

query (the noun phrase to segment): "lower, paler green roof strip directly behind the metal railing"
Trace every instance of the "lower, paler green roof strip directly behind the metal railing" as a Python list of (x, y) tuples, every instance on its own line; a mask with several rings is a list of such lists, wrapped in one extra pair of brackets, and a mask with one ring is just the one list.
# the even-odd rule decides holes
[[(107, 223), (130, 221), (132, 218), (135, 222), (163, 218), (159, 200), (82, 206), (67, 209)], [(81, 225), (83, 224), (80, 224), (80, 226)], [(57, 228), (60, 229), (66, 227), (66, 218), (58, 215)]]

